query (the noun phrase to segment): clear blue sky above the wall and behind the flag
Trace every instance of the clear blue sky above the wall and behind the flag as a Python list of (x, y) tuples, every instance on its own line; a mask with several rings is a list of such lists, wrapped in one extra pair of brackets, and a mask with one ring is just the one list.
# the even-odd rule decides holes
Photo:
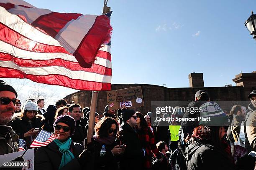
[[(26, 1), (56, 12), (96, 15), (104, 2)], [(205, 87), (235, 85), (235, 75), (256, 70), (256, 42), (244, 26), (251, 10), (256, 12), (255, 0), (109, 0), (108, 6), (112, 84), (189, 87), (189, 73), (203, 72)]]

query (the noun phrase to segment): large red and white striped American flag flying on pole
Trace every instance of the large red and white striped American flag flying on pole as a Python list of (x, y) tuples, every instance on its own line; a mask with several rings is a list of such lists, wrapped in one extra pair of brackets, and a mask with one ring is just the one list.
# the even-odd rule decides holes
[(108, 15), (57, 13), (0, 0), (0, 77), (111, 90)]

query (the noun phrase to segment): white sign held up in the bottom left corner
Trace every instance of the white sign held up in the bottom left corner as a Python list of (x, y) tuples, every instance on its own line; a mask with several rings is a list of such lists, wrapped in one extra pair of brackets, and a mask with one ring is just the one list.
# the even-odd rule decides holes
[[(21, 156), (24, 151), (19, 151), (19, 152), (14, 152), (14, 153), (8, 153), (5, 155), (0, 155), (0, 167), (4, 164), (4, 163), (8, 163), (11, 160), (17, 158), (18, 156)], [(27, 152), (25, 153), (25, 155), (23, 155), (24, 158), (24, 164), (25, 166), (23, 166), (22, 170), (33, 170), (34, 169), (34, 149), (29, 149), (27, 150)], [(11, 168), (10, 168), (11, 170)]]

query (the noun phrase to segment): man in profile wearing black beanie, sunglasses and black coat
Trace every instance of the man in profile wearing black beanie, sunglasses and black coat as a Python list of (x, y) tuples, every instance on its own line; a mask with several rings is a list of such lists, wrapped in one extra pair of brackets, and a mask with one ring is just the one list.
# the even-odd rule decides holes
[(146, 156), (146, 150), (141, 148), (140, 140), (135, 130), (136, 112), (123, 109), (121, 111), (123, 124), (120, 126), (120, 140), (127, 146), (120, 160), (122, 170), (141, 170), (141, 160)]

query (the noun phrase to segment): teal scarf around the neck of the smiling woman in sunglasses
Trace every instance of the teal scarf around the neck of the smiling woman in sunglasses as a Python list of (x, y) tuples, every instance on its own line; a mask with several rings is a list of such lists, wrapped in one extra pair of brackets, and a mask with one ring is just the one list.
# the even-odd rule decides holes
[(63, 154), (61, 158), (61, 164), (59, 165), (59, 170), (67, 165), (72, 159), (74, 159), (73, 153), (69, 150), (70, 145), (72, 143), (71, 138), (66, 140), (65, 142), (61, 142), (57, 139), (54, 140), (57, 146), (59, 146), (59, 151)]

